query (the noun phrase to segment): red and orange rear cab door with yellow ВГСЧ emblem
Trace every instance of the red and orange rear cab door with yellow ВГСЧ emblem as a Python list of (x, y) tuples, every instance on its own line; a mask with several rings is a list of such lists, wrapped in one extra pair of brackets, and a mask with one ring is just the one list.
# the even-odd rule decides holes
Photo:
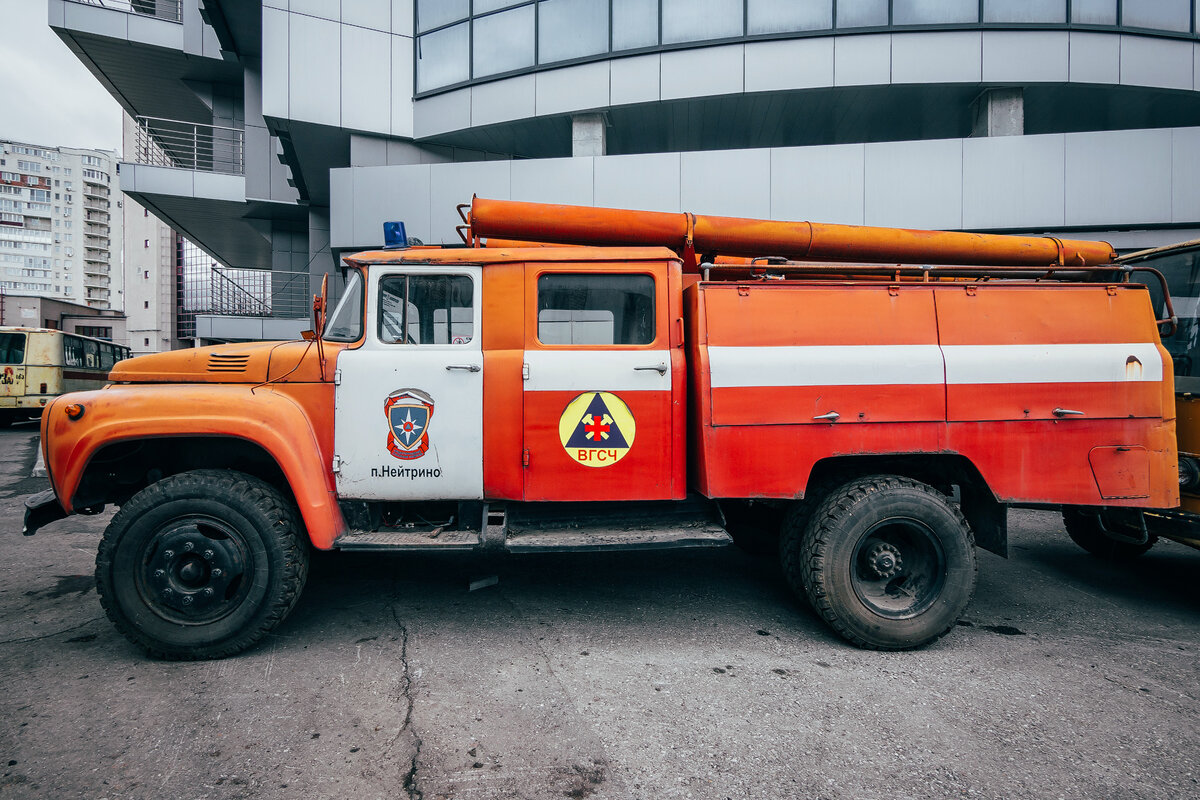
[(666, 266), (526, 269), (526, 500), (673, 498), (684, 375)]

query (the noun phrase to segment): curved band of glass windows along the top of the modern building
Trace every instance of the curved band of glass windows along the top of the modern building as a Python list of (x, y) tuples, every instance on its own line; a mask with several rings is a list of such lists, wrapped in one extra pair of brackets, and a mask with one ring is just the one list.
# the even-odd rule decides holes
[(539, 67), (839, 30), (1088, 26), (1195, 37), (1200, 0), (416, 0), (418, 95)]

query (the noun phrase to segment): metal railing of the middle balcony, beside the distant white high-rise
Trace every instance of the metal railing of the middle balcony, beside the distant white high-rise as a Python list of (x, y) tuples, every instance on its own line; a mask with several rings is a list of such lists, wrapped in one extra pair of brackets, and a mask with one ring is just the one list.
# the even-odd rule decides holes
[(227, 175), (246, 173), (246, 133), (241, 128), (157, 116), (139, 116), (137, 122), (134, 163)]

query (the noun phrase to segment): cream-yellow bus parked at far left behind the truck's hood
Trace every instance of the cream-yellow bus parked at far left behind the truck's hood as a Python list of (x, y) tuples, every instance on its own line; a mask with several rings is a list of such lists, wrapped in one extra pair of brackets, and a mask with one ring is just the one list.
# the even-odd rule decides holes
[(66, 392), (100, 389), (130, 348), (43, 327), (0, 326), (0, 428), (41, 416)]

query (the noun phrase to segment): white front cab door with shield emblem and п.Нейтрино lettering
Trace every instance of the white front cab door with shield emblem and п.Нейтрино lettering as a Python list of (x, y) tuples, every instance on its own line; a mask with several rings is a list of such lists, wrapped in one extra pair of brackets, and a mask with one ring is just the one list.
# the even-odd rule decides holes
[(370, 279), (362, 345), (337, 359), (338, 497), (481, 499), (480, 269), (396, 265)]

